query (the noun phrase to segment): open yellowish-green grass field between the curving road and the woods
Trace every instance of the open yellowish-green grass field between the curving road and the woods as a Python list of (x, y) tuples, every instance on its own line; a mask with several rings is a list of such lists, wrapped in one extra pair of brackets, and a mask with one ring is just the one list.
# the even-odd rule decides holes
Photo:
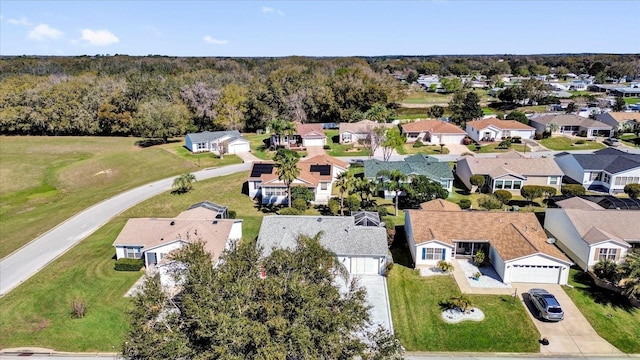
[[(139, 147), (136, 138), (2, 137), (0, 257), (75, 213), (151, 181), (239, 162), (195, 156), (182, 140)], [(200, 160), (198, 160), (200, 159)], [(206, 165), (205, 165), (206, 164)]]

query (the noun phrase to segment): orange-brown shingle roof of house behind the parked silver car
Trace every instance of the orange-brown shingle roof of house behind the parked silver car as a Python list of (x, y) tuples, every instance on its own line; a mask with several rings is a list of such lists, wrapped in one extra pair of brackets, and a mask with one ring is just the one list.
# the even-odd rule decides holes
[(488, 241), (505, 261), (545, 254), (571, 261), (554, 245), (533, 213), (405, 210), (416, 245), (441, 241)]

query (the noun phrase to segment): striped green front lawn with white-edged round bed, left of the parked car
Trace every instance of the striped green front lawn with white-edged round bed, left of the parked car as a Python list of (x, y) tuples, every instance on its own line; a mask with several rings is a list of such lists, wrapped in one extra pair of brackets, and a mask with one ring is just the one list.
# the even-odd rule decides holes
[(539, 351), (540, 334), (526, 309), (510, 296), (470, 295), (485, 319), (449, 324), (441, 318), (440, 304), (460, 291), (453, 277), (423, 278), (396, 263), (387, 285), (393, 327), (407, 351)]

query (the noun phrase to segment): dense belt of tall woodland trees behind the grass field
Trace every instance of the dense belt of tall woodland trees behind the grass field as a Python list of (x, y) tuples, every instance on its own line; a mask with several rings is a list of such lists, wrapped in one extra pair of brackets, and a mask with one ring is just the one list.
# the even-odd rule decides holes
[(358, 58), (4, 57), (0, 134), (164, 139), (341, 122), (390, 110), (404, 88)]

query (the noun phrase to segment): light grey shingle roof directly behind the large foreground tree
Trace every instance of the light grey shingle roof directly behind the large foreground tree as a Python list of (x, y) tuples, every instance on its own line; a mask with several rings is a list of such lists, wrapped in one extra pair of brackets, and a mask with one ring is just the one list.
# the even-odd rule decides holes
[(262, 219), (258, 246), (263, 256), (273, 248), (293, 248), (298, 235), (324, 234), (320, 244), (336, 255), (386, 256), (387, 232), (383, 227), (355, 226), (352, 216), (271, 215)]

